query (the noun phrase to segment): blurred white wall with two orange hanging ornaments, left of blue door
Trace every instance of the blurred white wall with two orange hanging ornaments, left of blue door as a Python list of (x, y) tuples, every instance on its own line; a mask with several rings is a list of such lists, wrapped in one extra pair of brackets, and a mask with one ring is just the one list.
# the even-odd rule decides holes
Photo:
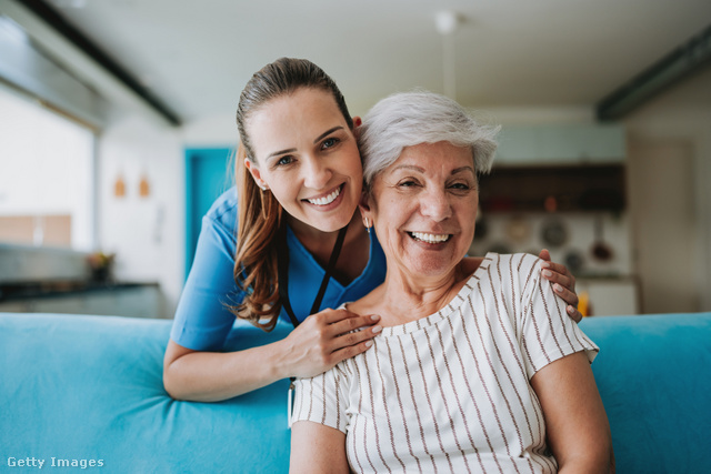
[[(116, 252), (116, 276), (158, 282), (172, 317), (184, 279), (184, 164), (180, 131), (130, 115), (99, 138), (99, 242)], [(121, 175), (126, 195), (114, 195)], [(150, 195), (139, 195), (141, 177)]]

